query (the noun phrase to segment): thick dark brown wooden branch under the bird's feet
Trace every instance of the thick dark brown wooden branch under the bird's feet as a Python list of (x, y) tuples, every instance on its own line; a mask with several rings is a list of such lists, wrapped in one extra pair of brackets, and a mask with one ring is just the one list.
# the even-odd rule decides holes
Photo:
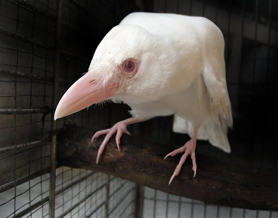
[(168, 186), (182, 154), (164, 156), (174, 147), (124, 134), (121, 152), (115, 138), (108, 143), (99, 164), (95, 163), (104, 136), (93, 144), (95, 133), (88, 127), (65, 124), (57, 136), (57, 163), (112, 174), (138, 184), (205, 203), (223, 206), (278, 210), (278, 170), (240, 166), (197, 154), (197, 174), (192, 162), (185, 161), (180, 174)]

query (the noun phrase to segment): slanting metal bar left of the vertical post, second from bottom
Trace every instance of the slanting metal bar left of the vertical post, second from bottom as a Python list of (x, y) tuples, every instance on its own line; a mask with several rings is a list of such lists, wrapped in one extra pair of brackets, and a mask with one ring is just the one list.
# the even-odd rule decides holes
[(39, 177), (39, 176), (41, 176), (43, 174), (46, 174), (46, 173), (49, 173), (49, 167), (41, 169), (41, 170), (39, 170), (39, 171), (37, 171), (37, 172), (35, 172), (33, 174), (30, 174), (28, 176), (24, 176), (22, 178), (19, 178), (19, 179), (13, 181), (13, 182), (9, 182), (9, 183), (7, 183), (5, 185), (2, 185), (0, 187), (0, 193), (2, 193), (4, 191), (7, 191), (7, 190), (9, 190), (11, 188), (14, 188), (16, 186), (19, 186), (19, 185), (23, 184), (24, 182), (27, 182), (27, 181), (32, 180), (34, 178), (37, 178), (37, 177)]

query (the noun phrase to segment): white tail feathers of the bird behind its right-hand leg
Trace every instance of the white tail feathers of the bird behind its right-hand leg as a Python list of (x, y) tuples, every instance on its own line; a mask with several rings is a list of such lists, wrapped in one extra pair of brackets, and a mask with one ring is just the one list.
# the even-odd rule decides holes
[[(188, 134), (191, 138), (193, 136), (194, 125), (174, 115), (173, 132)], [(207, 123), (200, 126), (197, 139), (208, 140), (209, 143), (227, 153), (231, 152), (230, 144), (227, 138), (228, 126), (223, 123), (222, 126), (217, 125), (212, 119), (209, 119)]]

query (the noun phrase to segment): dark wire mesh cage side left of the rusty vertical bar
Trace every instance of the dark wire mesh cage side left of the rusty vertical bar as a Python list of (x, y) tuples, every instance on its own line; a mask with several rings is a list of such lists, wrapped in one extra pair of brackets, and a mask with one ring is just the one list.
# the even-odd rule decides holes
[[(51, 1), (33, 1), (41, 9), (55, 14)], [(55, 4), (54, 4), (55, 5)], [(53, 48), (55, 23), (34, 13), (17, 1), (0, 2), (0, 69), (37, 76), (53, 76)], [(25, 36), (24, 40), (14, 32)], [(19, 39), (19, 40), (18, 40)], [(39, 46), (34, 46), (39, 42)], [(52, 83), (44, 79), (32, 80), (0, 74), (0, 108), (34, 110), (51, 106)], [(50, 92), (50, 93), (49, 93)], [(39, 110), (37, 110), (39, 111)], [(3, 111), (2, 111), (3, 112)], [(49, 112), (49, 111), (48, 111)], [(0, 148), (41, 140), (50, 130), (46, 113), (11, 113), (0, 115)], [(0, 186), (11, 182), (11, 189), (0, 193), (1, 217), (12, 217), (47, 195), (44, 184), (48, 182), (49, 144), (0, 154)], [(38, 173), (39, 172), (39, 173)], [(34, 173), (37, 173), (34, 175)], [(30, 176), (31, 175), (31, 176)], [(28, 181), (28, 178), (31, 178)], [(38, 177), (39, 176), (39, 177)], [(36, 178), (37, 177), (37, 178)], [(19, 180), (20, 182), (19, 182)], [(27, 182), (25, 182), (27, 181)], [(17, 183), (15, 183), (17, 182)], [(19, 184), (16, 186), (16, 184)], [(12, 188), (13, 187), (13, 188)]]

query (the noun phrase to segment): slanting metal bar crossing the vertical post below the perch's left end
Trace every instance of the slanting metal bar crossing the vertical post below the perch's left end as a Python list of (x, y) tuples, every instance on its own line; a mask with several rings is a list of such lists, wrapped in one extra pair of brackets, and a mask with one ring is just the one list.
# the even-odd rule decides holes
[[(48, 168), (49, 169), (49, 168)], [(86, 178), (90, 177), (91, 175), (95, 174), (95, 172), (92, 172), (86, 176), (83, 176), (81, 178), (79, 178), (78, 180), (66, 185), (65, 187), (57, 190), (55, 192), (55, 195), (59, 195), (61, 193), (63, 193), (64, 191), (66, 191), (67, 189), (69, 189), (70, 187), (74, 186), (75, 184), (77, 184), (78, 182), (82, 182), (83, 180), (85, 180)], [(28, 181), (28, 180), (27, 180)], [(15, 216), (11, 217), (11, 218), (20, 218), (20, 217), (23, 217), (25, 216), (27, 213), (31, 212), (32, 210), (36, 209), (37, 207), (39, 207), (40, 205), (43, 205), (44, 203), (48, 202), (49, 200), (49, 196), (41, 199), (40, 201), (32, 204), (30, 207), (26, 208), (25, 210), (17, 213)]]

